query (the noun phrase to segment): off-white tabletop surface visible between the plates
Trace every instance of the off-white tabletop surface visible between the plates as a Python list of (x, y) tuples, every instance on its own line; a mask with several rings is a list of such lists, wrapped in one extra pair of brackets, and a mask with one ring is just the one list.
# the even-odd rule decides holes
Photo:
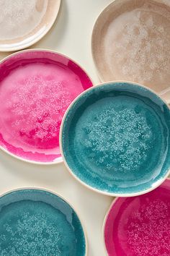
[[(50, 32), (31, 48), (48, 48), (70, 56), (86, 69), (94, 84), (99, 82), (91, 59), (91, 32), (100, 12), (111, 0), (62, 0)], [(9, 55), (0, 53), (0, 59)], [(88, 256), (104, 256), (102, 224), (112, 197), (82, 186), (63, 163), (37, 166), (16, 160), (0, 151), (0, 193), (18, 187), (45, 187), (60, 193), (76, 208), (86, 229)]]

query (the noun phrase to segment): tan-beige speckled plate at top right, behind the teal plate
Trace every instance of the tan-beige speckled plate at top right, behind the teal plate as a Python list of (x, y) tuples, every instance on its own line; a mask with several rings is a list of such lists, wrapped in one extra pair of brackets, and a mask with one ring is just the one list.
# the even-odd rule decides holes
[(94, 25), (91, 47), (103, 82), (129, 80), (170, 103), (170, 1), (115, 0)]

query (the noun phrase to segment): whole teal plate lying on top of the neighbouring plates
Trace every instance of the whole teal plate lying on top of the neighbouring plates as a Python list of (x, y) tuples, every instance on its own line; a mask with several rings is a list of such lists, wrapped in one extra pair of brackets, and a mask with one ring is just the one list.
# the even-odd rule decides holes
[(142, 85), (109, 82), (81, 93), (61, 124), (68, 170), (106, 195), (155, 189), (170, 169), (169, 106)]

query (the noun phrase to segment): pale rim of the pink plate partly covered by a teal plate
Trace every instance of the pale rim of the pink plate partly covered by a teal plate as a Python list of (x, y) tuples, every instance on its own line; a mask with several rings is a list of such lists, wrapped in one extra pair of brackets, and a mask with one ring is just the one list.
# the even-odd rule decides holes
[[(86, 74), (86, 77), (89, 77), (89, 80), (91, 81), (91, 88), (94, 87), (94, 81), (91, 79), (91, 76), (86, 72), (84, 67), (82, 67), (77, 61), (74, 61), (72, 58), (68, 57), (66, 54), (61, 53), (60, 51), (50, 50), (50, 49), (46, 49), (46, 48), (24, 49), (22, 51), (14, 52), (13, 54), (9, 54), (5, 58), (1, 59), (0, 66), (1, 66), (1, 64), (3, 64), (4, 61), (6, 61), (7, 59), (10, 59), (11, 57), (13, 57), (13, 56), (15, 56), (17, 54), (22, 54), (22, 53), (25, 53), (25, 52), (27, 53), (27, 52), (31, 52), (31, 51), (46, 51), (46, 52), (51, 53), (51, 54), (57, 54), (57, 55), (63, 56), (64, 58), (73, 61), (73, 63), (76, 64), (78, 67), (80, 67), (80, 69), (84, 72), (84, 74)], [(87, 90), (89, 90), (89, 89), (87, 89)], [(59, 142), (59, 147), (60, 147), (60, 142)], [(51, 165), (55, 165), (55, 164), (58, 164), (58, 163), (63, 163), (62, 155), (61, 155), (61, 157), (60, 157), (60, 159), (58, 161), (42, 162), (42, 161), (32, 161), (30, 159), (22, 158), (20, 156), (14, 155), (13, 153), (9, 152), (9, 150), (6, 150), (6, 148), (2, 147), (1, 145), (0, 145), (0, 150), (2, 150), (7, 155), (12, 156), (13, 158), (15, 158), (15, 159), (17, 159), (19, 161), (24, 161), (26, 163), (33, 163), (35, 165), (51, 166)]]

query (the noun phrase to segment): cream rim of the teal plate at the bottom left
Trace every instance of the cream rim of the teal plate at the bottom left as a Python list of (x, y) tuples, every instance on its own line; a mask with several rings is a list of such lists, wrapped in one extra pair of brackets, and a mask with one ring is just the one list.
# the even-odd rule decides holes
[(48, 192), (52, 195), (55, 195), (55, 196), (61, 198), (64, 202), (66, 202), (70, 206), (70, 208), (73, 209), (73, 211), (76, 213), (76, 216), (79, 218), (79, 222), (81, 223), (81, 227), (82, 227), (82, 230), (84, 233), (84, 241), (85, 241), (85, 255), (84, 256), (87, 256), (87, 253), (89, 251), (89, 245), (88, 245), (88, 239), (87, 239), (87, 233), (86, 233), (84, 221), (82, 221), (82, 219), (80, 218), (79, 211), (77, 211), (77, 209), (72, 205), (72, 203), (69, 202), (65, 197), (63, 197), (63, 195), (61, 195), (61, 193), (55, 192), (52, 189), (47, 189), (46, 187), (39, 187), (39, 186), (38, 187), (37, 186), (36, 187), (17, 187), (14, 189), (9, 189), (6, 192), (2, 192), (0, 194), (0, 200), (1, 200), (1, 197), (4, 197), (5, 195), (9, 195), (12, 192), (18, 192), (18, 191), (22, 191), (22, 190), (37, 190), (37, 191), (42, 191), (42, 192)]

